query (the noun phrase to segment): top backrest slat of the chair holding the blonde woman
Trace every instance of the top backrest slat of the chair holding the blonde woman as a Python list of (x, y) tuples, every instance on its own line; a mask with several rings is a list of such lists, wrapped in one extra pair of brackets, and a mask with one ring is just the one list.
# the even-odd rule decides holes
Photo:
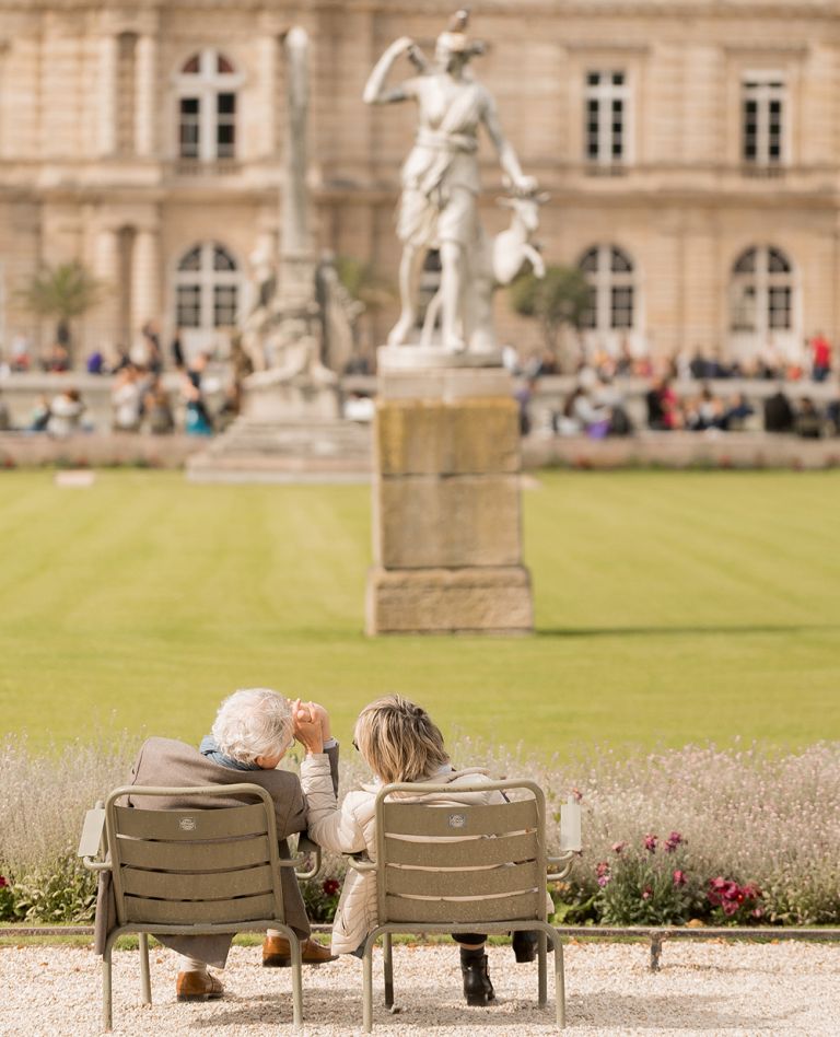
[(383, 804), (388, 835), (407, 836), (495, 836), (536, 828), (539, 823), (535, 800), (463, 807), (459, 804)]

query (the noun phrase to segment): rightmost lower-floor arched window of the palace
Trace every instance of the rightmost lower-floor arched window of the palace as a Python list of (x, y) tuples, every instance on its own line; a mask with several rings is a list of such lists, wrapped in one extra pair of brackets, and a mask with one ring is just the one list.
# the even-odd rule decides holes
[(732, 321), (736, 333), (767, 336), (794, 328), (791, 261), (779, 248), (748, 248), (732, 269)]

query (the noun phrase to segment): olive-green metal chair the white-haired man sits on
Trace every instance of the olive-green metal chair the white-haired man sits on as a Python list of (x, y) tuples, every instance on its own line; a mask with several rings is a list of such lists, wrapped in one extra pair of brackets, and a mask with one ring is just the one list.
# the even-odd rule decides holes
[(302, 1024), (301, 944), (285, 924), (280, 869), (298, 867), (306, 854), (280, 858), (275, 806), (265, 789), (242, 782), (223, 791), (257, 802), (215, 809), (138, 809), (119, 801), (129, 795), (218, 796), (219, 787), (125, 785), (115, 789), (104, 806), (88, 812), (79, 857), (86, 867), (112, 873), (118, 923), (102, 958), (105, 1030), (112, 1028), (112, 949), (118, 936), (139, 934), (142, 1002), (151, 1004), (149, 933), (206, 935), (269, 928), (289, 940), (295, 1029)]

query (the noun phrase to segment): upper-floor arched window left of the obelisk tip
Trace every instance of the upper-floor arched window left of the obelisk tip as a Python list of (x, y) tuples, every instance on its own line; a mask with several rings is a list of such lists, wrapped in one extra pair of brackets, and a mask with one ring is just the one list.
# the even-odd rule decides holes
[(200, 162), (236, 158), (236, 90), (242, 77), (218, 50), (184, 62), (177, 79), (178, 155)]

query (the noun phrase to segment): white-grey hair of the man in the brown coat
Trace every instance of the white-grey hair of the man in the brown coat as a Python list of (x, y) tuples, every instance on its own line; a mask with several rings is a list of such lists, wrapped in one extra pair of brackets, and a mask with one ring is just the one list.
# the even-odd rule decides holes
[(219, 707), (212, 732), (219, 749), (240, 764), (275, 756), (289, 748), (291, 703), (270, 688), (243, 688)]

